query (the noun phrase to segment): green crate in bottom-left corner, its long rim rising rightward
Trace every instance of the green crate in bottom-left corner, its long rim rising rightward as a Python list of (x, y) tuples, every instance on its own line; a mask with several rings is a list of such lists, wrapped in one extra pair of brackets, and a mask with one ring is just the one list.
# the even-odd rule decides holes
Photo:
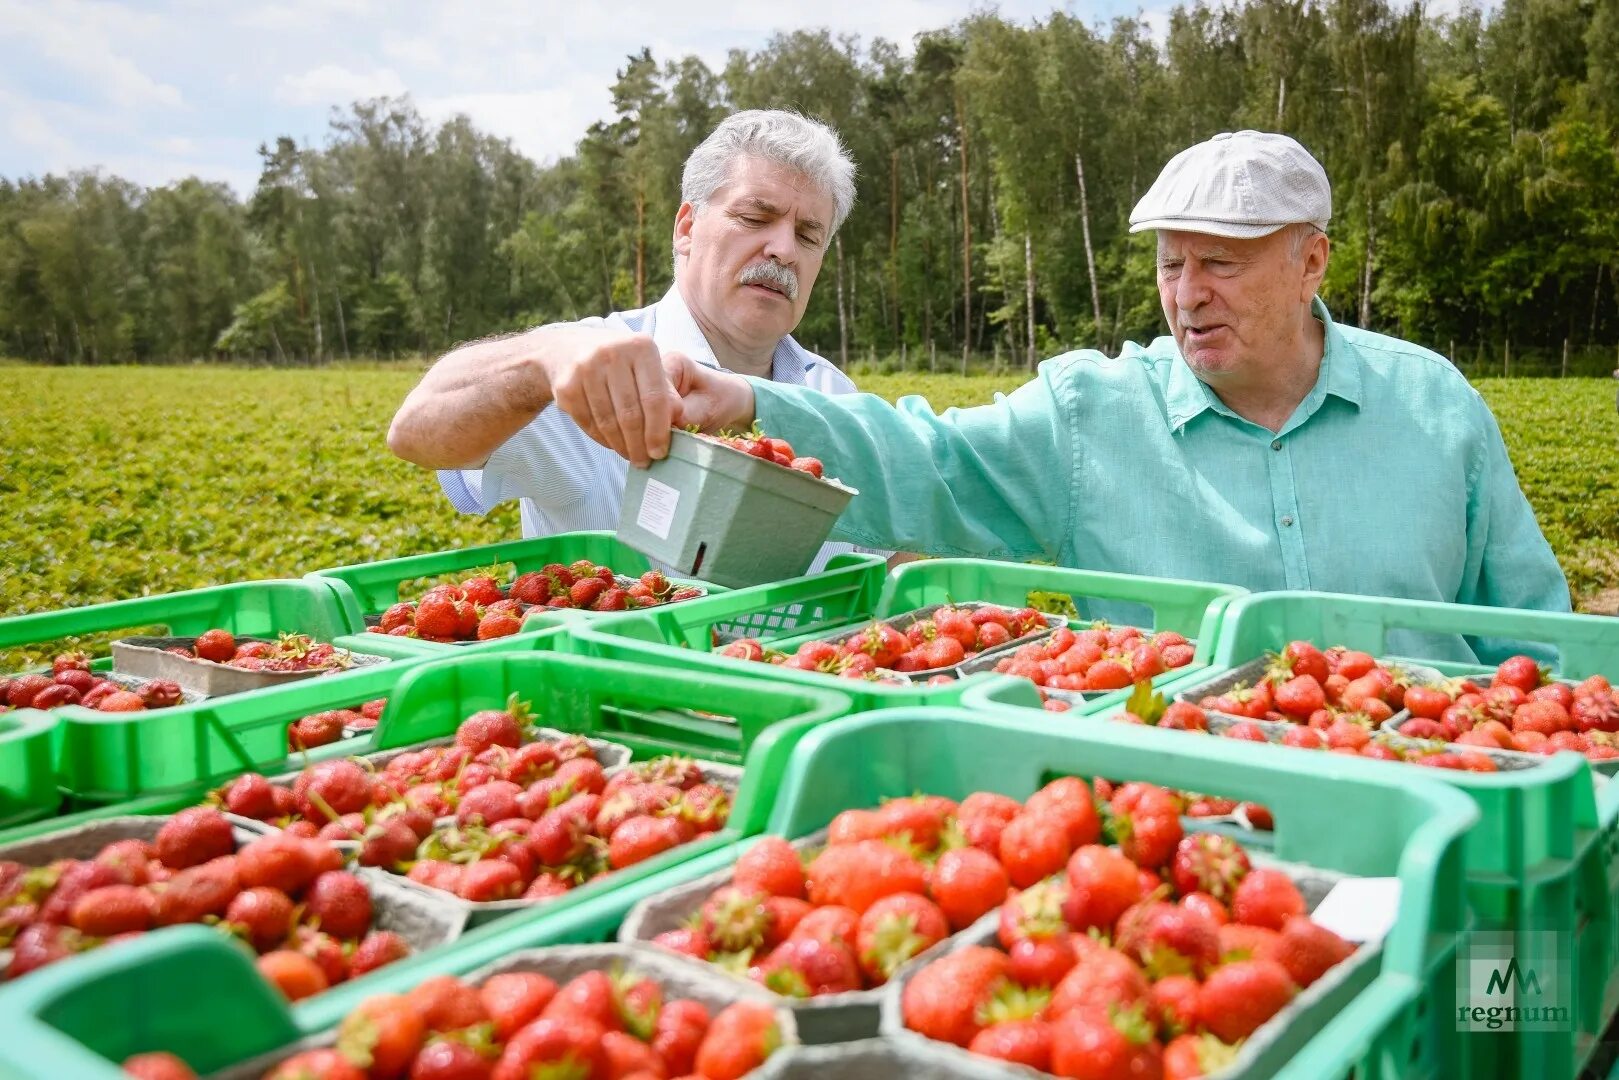
[(0, 989), (0, 1075), (128, 1080), (118, 1062), (167, 1049), (206, 1077), (330, 1028), (364, 997), (406, 991), (431, 975), (465, 975), (518, 949), (609, 941), (641, 899), (735, 858), (735, 847), (725, 845), (627, 881), (588, 905), (510, 915), (448, 946), (397, 960), (368, 975), (358, 989), (337, 986), (293, 1007), (259, 978), (248, 952), (214, 928), (142, 934)]

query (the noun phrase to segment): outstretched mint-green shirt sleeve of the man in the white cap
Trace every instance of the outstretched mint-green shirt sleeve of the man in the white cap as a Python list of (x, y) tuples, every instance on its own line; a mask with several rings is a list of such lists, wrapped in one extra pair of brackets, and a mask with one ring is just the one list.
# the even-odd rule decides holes
[(763, 427), (860, 491), (834, 536), (931, 555), (1051, 559), (1070, 529), (1067, 366), (992, 405), (934, 413), (920, 397), (829, 397), (753, 379)]

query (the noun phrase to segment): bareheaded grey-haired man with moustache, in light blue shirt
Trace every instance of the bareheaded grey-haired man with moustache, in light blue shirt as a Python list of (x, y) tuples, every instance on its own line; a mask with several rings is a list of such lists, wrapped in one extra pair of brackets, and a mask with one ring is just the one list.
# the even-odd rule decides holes
[[(521, 499), (525, 536), (612, 529), (627, 461), (669, 444), (678, 405), (665, 364), (853, 392), (790, 337), (855, 202), (837, 134), (792, 112), (738, 112), (686, 159), (680, 199), (662, 300), (450, 351), (393, 416), (389, 449), (439, 470), (458, 510)], [(816, 567), (850, 549), (827, 544)]]

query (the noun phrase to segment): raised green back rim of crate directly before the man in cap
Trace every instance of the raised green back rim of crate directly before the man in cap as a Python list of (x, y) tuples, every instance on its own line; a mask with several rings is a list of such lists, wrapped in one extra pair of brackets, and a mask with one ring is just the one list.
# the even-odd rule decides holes
[(1073, 599), (1125, 601), (1153, 610), (1154, 625), (1145, 628), (1175, 630), (1195, 638), (1200, 649), (1196, 662), (1206, 664), (1203, 649), (1206, 646), (1213, 656), (1221, 612), (1232, 599), (1248, 593), (1235, 585), (1009, 562), (994, 568), (997, 596), (979, 596), (976, 586), (983, 578), (983, 560), (978, 559), (928, 559), (905, 563), (884, 585), (877, 610), (915, 610), (952, 599), (1022, 606), (1031, 591), (1069, 593)]

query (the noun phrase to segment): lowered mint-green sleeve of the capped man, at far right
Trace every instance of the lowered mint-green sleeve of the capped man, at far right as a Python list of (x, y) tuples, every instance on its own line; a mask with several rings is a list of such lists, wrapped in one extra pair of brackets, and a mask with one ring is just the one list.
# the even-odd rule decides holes
[[(1501, 426), (1483, 398), (1478, 411), (1483, 436), (1468, 478), (1467, 567), (1455, 599), (1488, 607), (1570, 610), (1569, 580), (1519, 487)], [(1545, 653), (1493, 638), (1473, 641), (1473, 651), (1491, 664), (1514, 653)]]

